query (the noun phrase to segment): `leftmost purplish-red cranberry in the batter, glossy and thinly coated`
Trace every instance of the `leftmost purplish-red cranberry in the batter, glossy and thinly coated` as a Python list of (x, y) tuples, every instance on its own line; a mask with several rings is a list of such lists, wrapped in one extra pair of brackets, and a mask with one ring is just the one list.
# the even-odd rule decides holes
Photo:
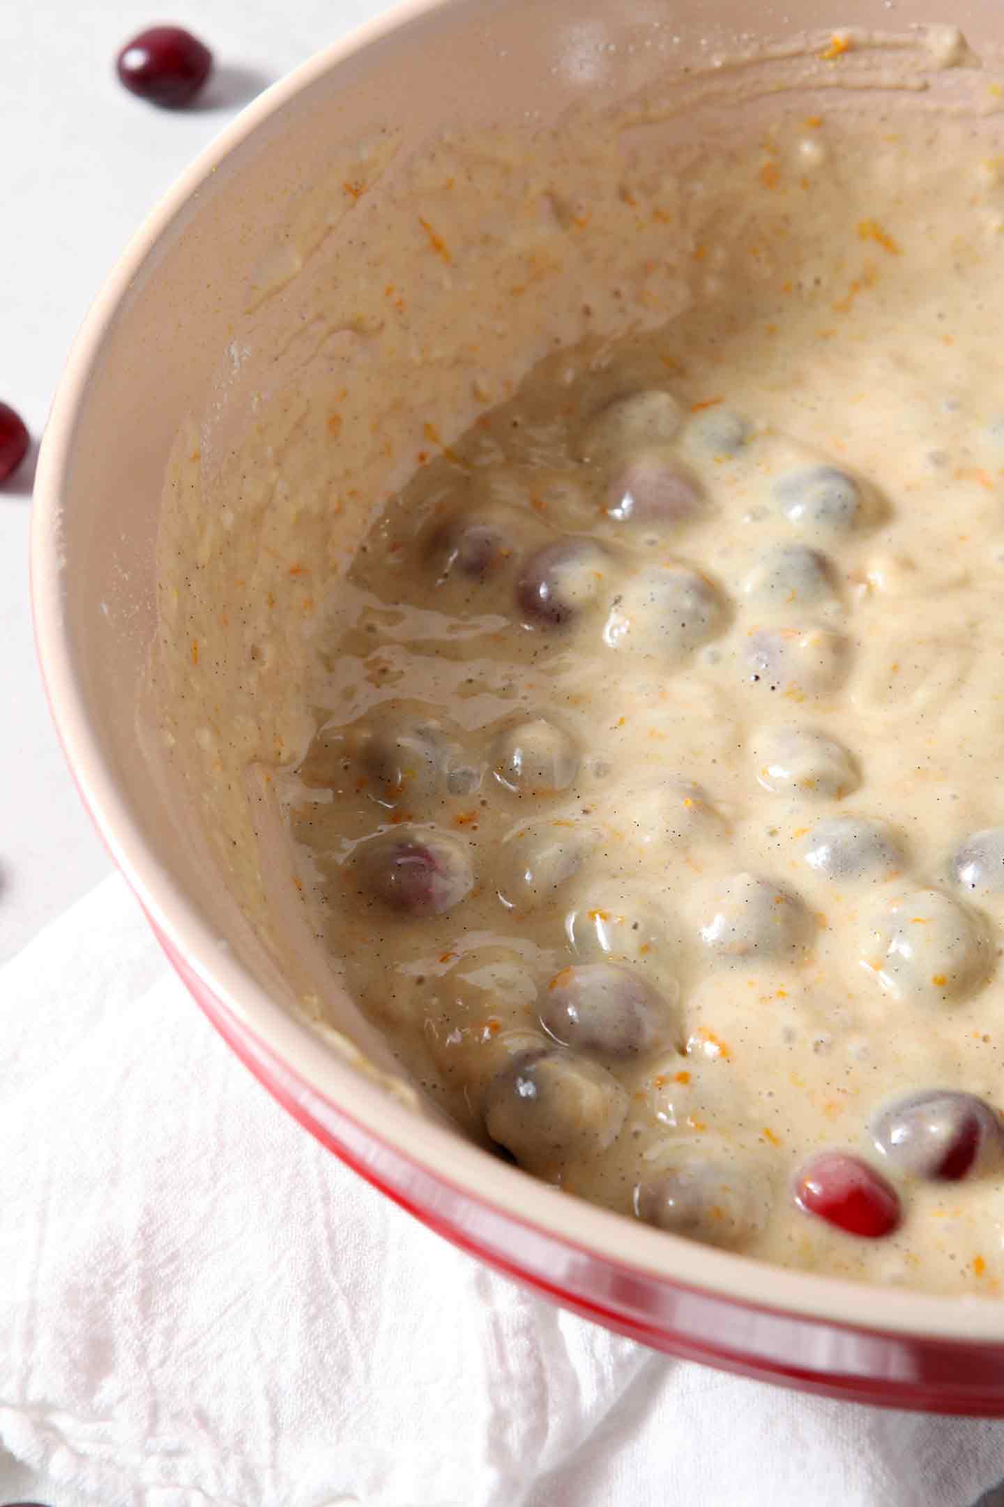
[(440, 916), (459, 904), (474, 883), (459, 842), (412, 827), (363, 842), (354, 868), (364, 895), (405, 916)]

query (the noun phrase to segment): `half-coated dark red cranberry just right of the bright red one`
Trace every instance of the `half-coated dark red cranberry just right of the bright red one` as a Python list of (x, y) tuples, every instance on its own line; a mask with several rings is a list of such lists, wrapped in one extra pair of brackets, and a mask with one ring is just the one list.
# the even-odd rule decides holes
[(990, 1106), (947, 1088), (888, 1105), (873, 1120), (872, 1138), (902, 1172), (938, 1183), (957, 1183), (978, 1162), (999, 1157), (1002, 1148)]

